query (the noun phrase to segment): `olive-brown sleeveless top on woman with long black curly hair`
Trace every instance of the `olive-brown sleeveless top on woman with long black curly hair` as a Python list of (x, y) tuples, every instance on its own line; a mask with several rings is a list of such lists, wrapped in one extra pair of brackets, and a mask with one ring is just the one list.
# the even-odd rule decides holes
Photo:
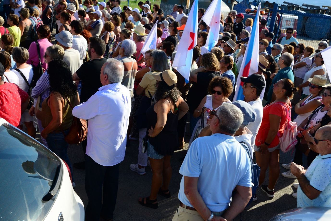
[[(77, 95), (72, 95), (68, 97), (68, 100), (70, 101), (71, 105), (74, 107), (75, 102), (76, 102), (76, 97)], [(42, 110), (42, 116), (41, 116), (41, 125), (43, 128), (47, 127), (49, 123), (52, 121), (52, 112), (51, 108), (48, 106), (47, 101), (49, 99), (49, 96), (42, 102), (41, 105), (41, 110)], [(71, 127), (72, 123), (72, 109), (67, 102), (67, 99), (64, 98), (64, 106), (62, 108), (62, 124), (61, 128), (62, 130), (68, 130)], [(54, 130), (55, 133), (60, 133), (62, 132), (60, 127)]]

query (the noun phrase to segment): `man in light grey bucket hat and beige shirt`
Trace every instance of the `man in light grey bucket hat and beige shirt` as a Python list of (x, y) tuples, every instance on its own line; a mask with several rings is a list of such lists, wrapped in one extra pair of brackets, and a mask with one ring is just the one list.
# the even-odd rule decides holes
[(72, 34), (69, 31), (65, 30), (55, 35), (55, 40), (57, 40), (57, 44), (64, 49), (63, 60), (67, 63), (68, 67), (71, 70), (71, 73), (73, 74), (79, 69), (81, 63), (79, 52), (71, 48), (72, 38)]

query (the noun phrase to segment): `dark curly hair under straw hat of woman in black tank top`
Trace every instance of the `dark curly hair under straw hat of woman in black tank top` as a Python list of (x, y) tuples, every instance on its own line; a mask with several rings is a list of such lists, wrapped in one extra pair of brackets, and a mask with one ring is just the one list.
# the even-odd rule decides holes
[(161, 99), (165, 99), (169, 97), (172, 102), (178, 101), (178, 96), (181, 96), (182, 93), (178, 90), (176, 84), (169, 86), (165, 82), (161, 81), (157, 83), (156, 91), (155, 91), (155, 100), (159, 101)]

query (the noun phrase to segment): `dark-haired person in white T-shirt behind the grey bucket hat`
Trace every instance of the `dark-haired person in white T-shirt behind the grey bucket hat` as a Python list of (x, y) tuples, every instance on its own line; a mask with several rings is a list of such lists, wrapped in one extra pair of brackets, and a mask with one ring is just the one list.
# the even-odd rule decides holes
[(77, 50), (80, 54), (80, 64), (83, 64), (83, 60), (86, 57), (87, 41), (80, 34), (84, 30), (84, 23), (80, 20), (73, 20), (70, 23), (70, 32), (73, 35), (72, 38), (72, 48)]

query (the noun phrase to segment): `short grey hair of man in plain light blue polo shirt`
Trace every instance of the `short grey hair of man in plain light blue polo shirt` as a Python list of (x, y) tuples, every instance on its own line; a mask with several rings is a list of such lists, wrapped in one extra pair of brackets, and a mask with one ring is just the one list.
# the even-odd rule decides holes
[(219, 130), (234, 135), (244, 121), (243, 112), (234, 104), (223, 103), (216, 112)]

